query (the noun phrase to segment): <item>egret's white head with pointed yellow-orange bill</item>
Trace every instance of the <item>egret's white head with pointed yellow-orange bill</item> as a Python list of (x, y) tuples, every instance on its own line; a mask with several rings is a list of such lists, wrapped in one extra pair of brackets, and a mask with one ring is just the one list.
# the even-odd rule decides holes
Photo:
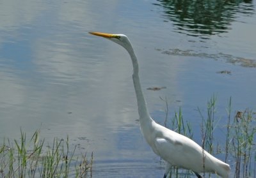
[(124, 34), (109, 34), (109, 33), (100, 33), (100, 32), (89, 32), (90, 34), (96, 35), (96, 36), (102, 36), (104, 38), (107, 38), (108, 40), (114, 41), (115, 43), (118, 43), (118, 45), (121, 45), (125, 49), (129, 49), (131, 47), (131, 42), (129, 41), (128, 37)]

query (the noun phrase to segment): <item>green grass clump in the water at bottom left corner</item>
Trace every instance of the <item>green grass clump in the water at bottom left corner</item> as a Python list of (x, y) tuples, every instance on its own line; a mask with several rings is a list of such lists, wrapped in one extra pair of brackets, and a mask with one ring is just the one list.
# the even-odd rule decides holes
[(45, 146), (35, 131), (28, 141), (20, 131), (20, 140), (4, 139), (0, 145), (0, 177), (92, 177), (93, 154), (76, 155), (66, 140), (54, 138)]

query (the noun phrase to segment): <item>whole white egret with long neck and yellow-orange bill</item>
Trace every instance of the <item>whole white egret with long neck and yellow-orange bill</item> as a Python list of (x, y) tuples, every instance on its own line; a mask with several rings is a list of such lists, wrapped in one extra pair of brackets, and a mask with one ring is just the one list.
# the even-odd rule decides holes
[(166, 161), (164, 178), (173, 166), (192, 170), (197, 177), (201, 177), (200, 173), (202, 172), (211, 172), (227, 178), (230, 173), (230, 167), (227, 163), (209, 154), (190, 138), (157, 124), (150, 117), (140, 85), (138, 60), (129, 38), (124, 34), (99, 32), (90, 32), (90, 34), (102, 36), (118, 43), (131, 56), (133, 66), (132, 80), (138, 103), (141, 132), (152, 150)]

